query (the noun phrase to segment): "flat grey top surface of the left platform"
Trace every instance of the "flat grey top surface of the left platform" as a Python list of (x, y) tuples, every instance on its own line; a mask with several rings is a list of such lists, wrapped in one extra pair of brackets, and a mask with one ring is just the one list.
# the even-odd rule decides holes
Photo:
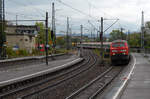
[[(47, 66), (46, 63), (36, 64), (31, 66), (20, 66), (18, 68), (8, 69), (5, 71), (0, 71), (0, 85), (2, 85), (5, 81), (16, 80), (21, 77), (31, 76), (34, 74), (39, 74), (43, 72), (53, 71), (53, 69), (59, 69), (61, 67), (65, 67), (66, 65), (70, 65), (71, 63), (78, 62), (81, 58), (76, 55), (69, 57), (68, 59), (62, 60), (54, 60), (50, 61)], [(48, 71), (49, 70), (49, 71)]]

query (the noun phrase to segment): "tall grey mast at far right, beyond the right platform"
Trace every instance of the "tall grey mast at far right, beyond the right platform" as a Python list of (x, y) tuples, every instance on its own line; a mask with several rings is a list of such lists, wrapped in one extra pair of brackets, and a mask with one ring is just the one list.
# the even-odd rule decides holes
[(141, 21), (141, 48), (144, 48), (144, 12), (142, 11)]

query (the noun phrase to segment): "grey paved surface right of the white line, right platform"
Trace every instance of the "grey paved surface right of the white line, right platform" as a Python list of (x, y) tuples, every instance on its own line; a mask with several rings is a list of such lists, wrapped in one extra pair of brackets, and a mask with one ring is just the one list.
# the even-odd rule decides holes
[(150, 62), (142, 54), (134, 56), (133, 75), (120, 99), (150, 99)]

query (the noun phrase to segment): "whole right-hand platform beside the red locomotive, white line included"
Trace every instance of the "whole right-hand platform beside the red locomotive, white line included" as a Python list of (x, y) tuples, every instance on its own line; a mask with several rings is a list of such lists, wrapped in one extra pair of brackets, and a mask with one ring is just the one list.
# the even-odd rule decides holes
[(99, 99), (150, 99), (150, 61), (141, 53), (132, 53), (128, 66)]

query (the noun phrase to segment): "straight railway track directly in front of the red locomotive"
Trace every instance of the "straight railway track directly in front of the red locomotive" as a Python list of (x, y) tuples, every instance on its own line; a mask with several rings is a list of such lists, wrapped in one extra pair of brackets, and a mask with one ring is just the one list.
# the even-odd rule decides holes
[(108, 84), (122, 71), (123, 67), (110, 67), (91, 82), (81, 87), (65, 99), (96, 99)]

